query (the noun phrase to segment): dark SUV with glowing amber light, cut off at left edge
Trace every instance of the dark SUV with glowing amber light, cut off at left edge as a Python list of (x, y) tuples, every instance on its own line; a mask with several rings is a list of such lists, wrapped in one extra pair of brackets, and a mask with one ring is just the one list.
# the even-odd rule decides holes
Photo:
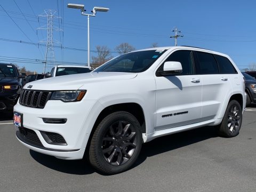
[(21, 78), (15, 65), (0, 63), (0, 114), (13, 111), (20, 96)]

